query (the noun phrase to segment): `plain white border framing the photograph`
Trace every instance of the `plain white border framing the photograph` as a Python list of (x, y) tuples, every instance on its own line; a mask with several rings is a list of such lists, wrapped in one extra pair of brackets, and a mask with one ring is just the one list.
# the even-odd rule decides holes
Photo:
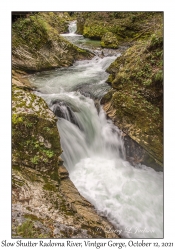
[[(174, 1), (15, 1), (0, 2), (0, 243), (11, 239), (11, 11), (164, 11), (164, 240), (173, 242), (175, 205), (175, 14)], [(58, 241), (58, 240), (57, 240)], [(151, 242), (151, 240), (147, 240)], [(126, 240), (127, 242), (127, 240)], [(156, 240), (154, 241), (156, 242)], [(175, 245), (175, 243), (174, 243)], [(1, 245), (0, 245), (1, 246)], [(16, 247), (13, 247), (16, 249)], [(30, 249), (30, 248), (28, 248)], [(71, 249), (75, 249), (72, 247)], [(105, 248), (108, 249), (108, 248)], [(111, 249), (111, 248), (109, 248)], [(140, 248), (137, 248), (140, 249)]]

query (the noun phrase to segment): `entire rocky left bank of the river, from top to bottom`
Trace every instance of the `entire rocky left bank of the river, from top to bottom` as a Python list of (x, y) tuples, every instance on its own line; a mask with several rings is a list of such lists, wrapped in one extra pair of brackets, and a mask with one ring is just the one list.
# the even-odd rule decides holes
[[(112, 225), (97, 214), (70, 181), (60, 158), (57, 120), (45, 101), (32, 92), (26, 72), (21, 71), (67, 66), (75, 59), (92, 56), (57, 33), (51, 35), (54, 30), (49, 20), (54, 15), (43, 15), (18, 19), (13, 27), (12, 237), (118, 238), (108, 232)], [(46, 33), (36, 26), (43, 23)]]

